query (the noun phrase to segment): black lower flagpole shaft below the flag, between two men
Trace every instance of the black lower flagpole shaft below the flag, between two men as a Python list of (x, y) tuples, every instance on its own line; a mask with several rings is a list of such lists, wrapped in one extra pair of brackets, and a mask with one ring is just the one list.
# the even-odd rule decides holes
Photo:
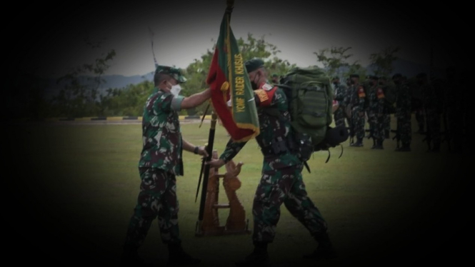
[[(203, 222), (204, 216), (204, 205), (206, 203), (206, 189), (208, 188), (208, 178), (209, 178), (209, 165), (204, 164), (206, 161), (211, 161), (211, 157), (213, 156), (213, 145), (214, 145), (214, 132), (216, 130), (216, 120), (218, 116), (216, 113), (211, 110), (211, 127), (209, 128), (209, 136), (208, 136), (208, 145), (206, 146), (206, 152), (208, 152), (208, 156), (206, 159), (203, 160), (201, 166), (204, 166), (203, 170), (203, 186), (201, 188), (201, 202), (199, 203), (199, 215), (198, 221), (196, 222), (196, 234), (201, 233), (201, 223)], [(200, 173), (201, 177), (201, 173)], [(201, 179), (200, 179), (201, 180)], [(199, 185), (198, 185), (199, 190)]]

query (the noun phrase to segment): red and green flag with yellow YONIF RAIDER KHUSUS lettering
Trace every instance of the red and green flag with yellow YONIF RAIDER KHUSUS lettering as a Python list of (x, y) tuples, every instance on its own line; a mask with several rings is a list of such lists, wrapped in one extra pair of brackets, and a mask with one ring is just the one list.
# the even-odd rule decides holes
[(259, 135), (259, 119), (245, 59), (229, 24), (232, 2), (228, 1), (221, 21), (206, 83), (211, 88), (211, 103), (221, 124), (234, 141), (241, 142)]

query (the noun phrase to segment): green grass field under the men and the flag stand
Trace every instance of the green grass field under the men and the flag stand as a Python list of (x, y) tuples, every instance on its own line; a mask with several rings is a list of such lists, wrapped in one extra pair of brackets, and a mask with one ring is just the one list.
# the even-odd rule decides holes
[[(182, 131), (191, 143), (204, 145), (209, 122), (201, 128), (182, 124)], [(13, 237), (7, 246), (24, 251), (19, 263), (115, 266), (139, 192), (140, 124), (13, 124), (7, 132), (4, 221)], [(318, 264), (301, 259), (315, 243), (282, 207), (276, 239), (269, 246), (273, 266), (456, 263), (450, 256), (461, 247), (454, 241), (464, 236), (462, 226), (473, 211), (464, 174), (473, 156), (449, 153), (445, 144), (441, 153), (426, 153), (422, 138), (414, 133), (410, 153), (395, 152), (391, 139), (381, 151), (371, 150), (367, 139), (362, 148), (344, 143), (341, 158), (341, 148), (331, 148), (328, 163), (326, 152), (314, 153), (304, 181), (340, 257)], [(221, 153), (227, 141), (217, 126), (214, 148)], [(262, 161), (257, 143), (247, 143), (234, 161), (244, 163), (236, 193), (252, 230), (251, 203)], [(184, 153), (184, 162), (185, 175), (177, 181), (184, 248), (202, 259), (201, 266), (233, 266), (251, 251), (251, 235), (194, 236), (201, 158)], [(221, 201), (226, 202), (222, 186)], [(220, 212), (223, 223), (226, 216), (226, 210)], [(140, 255), (157, 266), (166, 262), (156, 222)]]

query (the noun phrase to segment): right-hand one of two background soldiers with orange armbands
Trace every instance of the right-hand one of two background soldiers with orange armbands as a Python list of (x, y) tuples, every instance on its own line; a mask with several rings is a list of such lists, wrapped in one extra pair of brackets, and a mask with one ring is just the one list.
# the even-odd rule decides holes
[(383, 149), (384, 141), (384, 91), (378, 84), (378, 77), (369, 77), (368, 119), (373, 138), (371, 149)]

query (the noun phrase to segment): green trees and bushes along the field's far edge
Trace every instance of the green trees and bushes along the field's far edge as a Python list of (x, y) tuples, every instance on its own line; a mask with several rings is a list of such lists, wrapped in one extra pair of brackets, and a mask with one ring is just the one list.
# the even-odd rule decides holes
[[(253, 57), (266, 59), (265, 67), (269, 74), (284, 75), (289, 69), (296, 67), (296, 64), (280, 59), (281, 51), (276, 45), (266, 41), (265, 36), (256, 38), (253, 34), (248, 33), (246, 38), (239, 38), (236, 41), (244, 59)], [(201, 59), (194, 59), (194, 62), (182, 70), (188, 79), (182, 86), (182, 95), (190, 96), (206, 89), (206, 77), (211, 65), (214, 46), (207, 49)], [(371, 75), (389, 77), (393, 71), (392, 64), (398, 59), (396, 56), (398, 51), (399, 47), (389, 47), (370, 54), (370, 67), (373, 71)], [(332, 76), (339, 76), (343, 79), (353, 73), (359, 74), (363, 81), (366, 77), (366, 68), (361, 66), (359, 61), (351, 61), (353, 56), (351, 47), (320, 49), (314, 54), (316, 64), (320, 64), (329, 79)], [(46, 98), (47, 84), (41, 77), (34, 74), (18, 73), (12, 78), (16, 89), (10, 95), (11, 101), (7, 104), (7, 109), (16, 110), (13, 114), (14, 117), (33, 120), (55, 117), (141, 116), (144, 103), (154, 89), (153, 81), (142, 81), (124, 88), (109, 88), (105, 94), (99, 93), (101, 84), (105, 83), (103, 76), (115, 56), (116, 52), (111, 49), (94, 62), (77, 66), (74, 71), (59, 78), (57, 81), (64, 86), (51, 99)], [(181, 114), (201, 116), (204, 114), (205, 108), (206, 104), (203, 104), (196, 110), (181, 111)]]

